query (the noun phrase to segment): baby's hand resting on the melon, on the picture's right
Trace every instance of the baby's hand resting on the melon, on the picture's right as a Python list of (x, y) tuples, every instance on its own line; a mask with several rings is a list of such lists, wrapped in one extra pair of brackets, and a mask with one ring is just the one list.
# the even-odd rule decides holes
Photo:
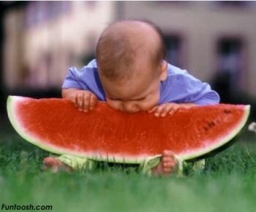
[(148, 113), (153, 113), (156, 117), (165, 117), (167, 114), (173, 115), (180, 106), (178, 103), (164, 103), (150, 109)]

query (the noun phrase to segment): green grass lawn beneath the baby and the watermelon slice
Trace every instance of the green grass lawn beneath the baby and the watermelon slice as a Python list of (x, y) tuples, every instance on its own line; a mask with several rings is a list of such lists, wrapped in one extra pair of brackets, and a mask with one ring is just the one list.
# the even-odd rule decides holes
[(242, 134), (229, 149), (187, 177), (148, 177), (135, 169), (53, 174), (41, 170), (47, 152), (13, 130), (0, 135), (1, 205), (52, 205), (53, 211), (255, 211), (256, 136)]

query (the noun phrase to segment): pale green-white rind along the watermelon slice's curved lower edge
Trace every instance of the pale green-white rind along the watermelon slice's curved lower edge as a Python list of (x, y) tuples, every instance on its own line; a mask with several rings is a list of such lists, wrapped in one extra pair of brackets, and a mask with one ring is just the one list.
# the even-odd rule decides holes
[[(129, 157), (127, 156), (111, 156), (108, 154), (99, 154), (99, 153), (89, 153), (89, 152), (83, 152), (83, 153), (79, 153), (79, 152), (75, 152), (75, 151), (70, 151), (68, 149), (61, 149), (60, 147), (57, 146), (53, 146), (50, 144), (43, 144), (43, 142), (38, 141), (36, 138), (33, 138), (33, 136), (30, 136), (29, 133), (26, 133), (23, 130), (23, 127), (20, 126), (19, 122), (18, 122), (18, 117), (15, 116), (15, 104), (17, 101), (19, 101), (19, 98), (23, 98), (23, 97), (19, 97), (19, 96), (9, 96), (7, 98), (7, 114), (8, 117), (10, 119), (10, 122), (12, 124), (12, 126), (15, 128), (15, 130), (18, 132), (18, 134), (23, 137), (26, 141), (29, 141), (29, 143), (34, 144), (35, 146), (38, 146), (41, 149), (44, 149), (48, 152), (52, 152), (54, 154), (72, 154), (78, 157), (86, 157), (92, 160), (97, 160), (97, 161), (108, 161), (108, 162), (125, 162), (125, 163), (133, 163), (133, 164), (138, 164), (141, 162), (144, 162), (146, 159), (148, 160), (148, 157), (157, 157), (160, 156), (159, 155), (140, 155), (140, 157)], [(241, 121), (238, 123), (237, 127), (233, 129), (232, 132), (227, 133), (227, 136), (225, 136), (224, 138), (222, 138), (221, 142), (216, 142), (215, 144), (208, 146), (208, 148), (204, 148), (204, 149), (198, 149), (198, 150), (193, 150), (193, 152), (188, 152), (188, 153), (182, 153), (182, 154), (178, 154), (178, 157), (181, 158), (181, 160), (192, 160), (195, 159), (197, 157), (202, 157), (203, 155), (206, 155), (210, 152), (213, 152), (215, 149), (218, 149), (221, 146), (224, 146), (225, 144), (227, 144), (230, 140), (232, 140), (237, 134), (238, 132), (244, 127), (244, 125), (246, 124), (246, 120), (249, 117), (249, 110), (250, 110), (250, 106), (247, 105), (244, 107), (244, 117), (241, 119)]]

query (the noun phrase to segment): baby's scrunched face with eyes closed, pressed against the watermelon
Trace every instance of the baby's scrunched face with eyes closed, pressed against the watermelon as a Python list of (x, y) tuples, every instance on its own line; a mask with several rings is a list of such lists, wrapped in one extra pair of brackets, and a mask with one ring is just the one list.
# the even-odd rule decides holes
[[(156, 70), (157, 71), (157, 70)], [(108, 105), (116, 110), (134, 113), (148, 111), (159, 101), (159, 74), (150, 69), (137, 71), (125, 82), (111, 82), (101, 79)]]

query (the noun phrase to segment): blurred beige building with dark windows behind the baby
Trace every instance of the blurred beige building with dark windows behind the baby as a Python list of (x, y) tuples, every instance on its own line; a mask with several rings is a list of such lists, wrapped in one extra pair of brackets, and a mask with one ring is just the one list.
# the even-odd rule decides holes
[(256, 99), (256, 1), (0, 1), (0, 111), (7, 95), (60, 97), (71, 66), (94, 58), (115, 20), (159, 25), (167, 60), (209, 82), (222, 103)]

